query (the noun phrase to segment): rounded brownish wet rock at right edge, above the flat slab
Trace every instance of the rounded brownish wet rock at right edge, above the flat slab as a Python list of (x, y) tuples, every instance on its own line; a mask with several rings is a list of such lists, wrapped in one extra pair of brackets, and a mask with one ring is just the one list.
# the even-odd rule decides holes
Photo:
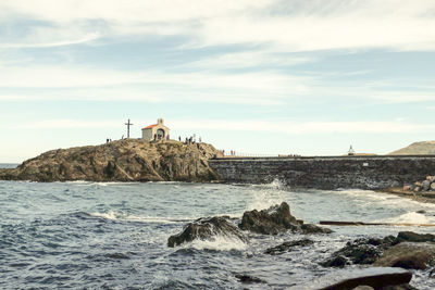
[(374, 263), (376, 266), (426, 269), (434, 266), (435, 244), (424, 242), (401, 242), (386, 250)]

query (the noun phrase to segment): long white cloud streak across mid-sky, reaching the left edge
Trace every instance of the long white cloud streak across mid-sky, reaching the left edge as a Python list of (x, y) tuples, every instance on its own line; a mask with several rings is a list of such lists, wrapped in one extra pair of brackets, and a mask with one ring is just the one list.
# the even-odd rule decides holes
[[(0, 100), (17, 98), (279, 104), (293, 96), (304, 93), (310, 81), (308, 77), (275, 72), (130, 72), (73, 65), (4, 65), (3, 68), (0, 70)], [(14, 93), (10, 93), (11, 89)]]

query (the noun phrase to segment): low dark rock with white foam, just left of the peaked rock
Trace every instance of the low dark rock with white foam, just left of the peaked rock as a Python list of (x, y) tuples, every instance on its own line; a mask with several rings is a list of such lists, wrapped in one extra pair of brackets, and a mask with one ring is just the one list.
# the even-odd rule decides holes
[(199, 218), (187, 224), (182, 232), (171, 236), (167, 239), (167, 247), (173, 248), (196, 239), (213, 240), (215, 236), (235, 238), (244, 242), (248, 240), (245, 234), (229, 222), (228, 216), (214, 216), (209, 218)]

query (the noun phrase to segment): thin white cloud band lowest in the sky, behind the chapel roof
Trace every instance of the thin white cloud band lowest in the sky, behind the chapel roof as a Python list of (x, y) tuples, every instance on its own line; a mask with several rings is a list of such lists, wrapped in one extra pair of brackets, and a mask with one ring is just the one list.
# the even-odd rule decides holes
[[(412, 124), (403, 121), (395, 122), (289, 122), (289, 121), (258, 121), (258, 119), (171, 119), (172, 129), (183, 130), (233, 130), (281, 134), (406, 134), (434, 130), (435, 125)], [(139, 127), (150, 121), (134, 122)], [(151, 122), (152, 123), (152, 122)], [(234, 126), (237, 124), (237, 126)], [(25, 129), (55, 128), (120, 128), (122, 122), (83, 121), (83, 119), (48, 119), (17, 125)]]

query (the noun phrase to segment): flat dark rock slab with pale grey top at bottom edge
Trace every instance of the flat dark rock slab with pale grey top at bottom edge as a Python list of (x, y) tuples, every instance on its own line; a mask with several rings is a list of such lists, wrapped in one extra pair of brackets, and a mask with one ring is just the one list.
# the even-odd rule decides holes
[[(384, 287), (402, 286), (409, 283), (412, 273), (401, 268), (370, 267), (362, 269), (337, 269), (307, 286), (297, 286), (289, 289), (323, 289), (350, 290), (359, 286), (369, 286), (376, 290)], [(394, 289), (394, 288), (393, 288)]]

